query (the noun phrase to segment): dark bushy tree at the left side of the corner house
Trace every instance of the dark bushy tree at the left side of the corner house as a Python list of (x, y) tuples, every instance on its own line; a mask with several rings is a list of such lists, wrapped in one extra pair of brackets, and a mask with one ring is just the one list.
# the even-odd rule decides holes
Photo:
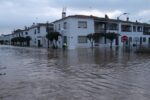
[(57, 48), (57, 41), (59, 39), (59, 36), (61, 36), (59, 32), (48, 32), (46, 35), (46, 38), (48, 39), (48, 47), (49, 41), (51, 41), (53, 44), (53, 48)]

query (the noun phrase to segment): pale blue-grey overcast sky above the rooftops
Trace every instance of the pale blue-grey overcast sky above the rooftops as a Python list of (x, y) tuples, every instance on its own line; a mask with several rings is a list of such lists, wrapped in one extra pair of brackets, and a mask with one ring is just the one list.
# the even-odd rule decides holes
[(61, 18), (62, 8), (67, 16), (75, 14), (94, 15), (150, 23), (150, 0), (0, 0), (0, 34), (10, 34), (17, 28), (30, 26), (33, 22), (52, 22)]

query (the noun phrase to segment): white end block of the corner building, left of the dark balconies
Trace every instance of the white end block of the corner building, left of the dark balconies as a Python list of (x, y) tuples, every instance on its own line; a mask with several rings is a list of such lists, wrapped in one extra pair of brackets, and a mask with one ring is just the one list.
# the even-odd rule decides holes
[(54, 22), (54, 31), (62, 35), (61, 46), (66, 43), (69, 49), (89, 47), (86, 36), (94, 33), (92, 17), (68, 16)]

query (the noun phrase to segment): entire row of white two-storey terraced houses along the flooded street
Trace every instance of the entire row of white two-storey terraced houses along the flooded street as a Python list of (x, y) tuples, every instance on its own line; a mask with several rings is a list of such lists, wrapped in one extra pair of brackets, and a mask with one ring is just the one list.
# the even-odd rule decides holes
[[(87, 35), (90, 33), (116, 33), (119, 37), (113, 41), (113, 46), (122, 46), (122, 37), (127, 37), (126, 45), (150, 45), (150, 24), (126, 20), (110, 19), (107, 16), (72, 15), (65, 16), (52, 23), (33, 23), (30, 27), (17, 29), (9, 35), (2, 35), (0, 41), (11, 44), (14, 37), (31, 37), (30, 46), (47, 47), (48, 31), (56, 31), (61, 34), (57, 41), (58, 47), (62, 48), (66, 43), (68, 49), (88, 48), (91, 46)], [(94, 46), (109, 46), (110, 40), (100, 38), (95, 41)]]

